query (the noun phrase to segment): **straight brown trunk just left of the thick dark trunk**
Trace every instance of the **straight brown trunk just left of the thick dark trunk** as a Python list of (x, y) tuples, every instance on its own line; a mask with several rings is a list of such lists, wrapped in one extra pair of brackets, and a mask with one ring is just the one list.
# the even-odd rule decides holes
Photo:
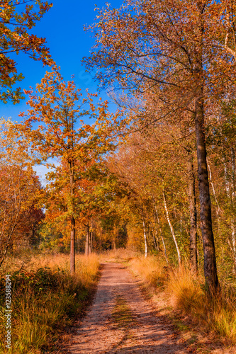
[(196, 193), (195, 176), (193, 171), (193, 158), (189, 161), (189, 214), (190, 214), (190, 239), (189, 239), (189, 261), (191, 269), (198, 270), (197, 256), (197, 219), (196, 219)]

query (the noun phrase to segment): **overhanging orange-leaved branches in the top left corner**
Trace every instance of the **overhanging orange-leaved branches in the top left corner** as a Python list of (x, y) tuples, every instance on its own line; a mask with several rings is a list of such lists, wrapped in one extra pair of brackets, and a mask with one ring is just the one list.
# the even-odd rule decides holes
[(12, 90), (14, 84), (23, 79), (23, 75), (18, 74), (11, 53), (23, 52), (43, 64), (52, 64), (49, 50), (45, 47), (45, 38), (30, 33), (50, 7), (52, 4), (47, 1), (0, 1), (0, 101), (18, 103), (23, 98), (21, 88)]

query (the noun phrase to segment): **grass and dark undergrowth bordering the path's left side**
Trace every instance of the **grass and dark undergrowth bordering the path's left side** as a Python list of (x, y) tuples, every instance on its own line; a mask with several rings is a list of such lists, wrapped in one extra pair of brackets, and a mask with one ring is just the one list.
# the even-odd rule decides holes
[[(12, 262), (12, 265), (9, 262)], [(97, 256), (77, 256), (69, 274), (69, 256), (37, 256), (27, 263), (13, 258), (1, 269), (0, 353), (51, 353), (60, 331), (84, 309), (99, 270)], [(11, 347), (5, 347), (5, 275), (11, 274)]]

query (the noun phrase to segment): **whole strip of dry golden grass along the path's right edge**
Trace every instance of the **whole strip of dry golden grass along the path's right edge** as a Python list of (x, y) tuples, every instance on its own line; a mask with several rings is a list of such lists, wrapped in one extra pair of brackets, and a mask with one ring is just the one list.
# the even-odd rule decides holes
[[(134, 258), (130, 267), (135, 275), (142, 278), (145, 287), (154, 288), (156, 293), (162, 290), (167, 299), (166, 307), (172, 309), (169, 315), (174, 321), (178, 319), (179, 329), (186, 331), (189, 328), (203, 336), (211, 333), (215, 341), (229, 346), (236, 343), (235, 288), (222, 285), (222, 295), (209, 299), (204, 290), (203, 276), (191, 272), (188, 265), (167, 269), (162, 259), (149, 256)], [(154, 294), (153, 291), (151, 293)]]

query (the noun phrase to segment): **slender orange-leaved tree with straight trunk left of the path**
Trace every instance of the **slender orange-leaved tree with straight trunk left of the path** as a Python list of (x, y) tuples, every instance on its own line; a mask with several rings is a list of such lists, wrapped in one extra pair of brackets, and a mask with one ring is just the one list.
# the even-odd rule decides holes
[[(30, 140), (31, 149), (38, 156), (38, 161), (45, 164), (50, 158), (59, 159), (63, 170), (55, 182), (63, 187), (66, 185), (68, 192), (65, 200), (71, 224), (71, 273), (74, 273), (75, 212), (79, 203), (76, 188), (81, 178), (79, 165), (83, 169), (95, 155), (103, 154), (110, 147), (108, 131), (111, 130), (111, 122), (108, 121), (111, 115), (107, 112), (107, 102), (100, 100), (94, 105), (92, 98), (96, 95), (89, 93), (83, 98), (74, 81), (63, 81), (57, 67), (52, 72), (46, 72), (35, 93), (33, 90), (26, 93), (30, 97), (30, 109), (21, 116), (27, 117), (23, 131)], [(85, 124), (82, 120), (85, 117), (96, 121), (91, 125)], [(55, 163), (51, 166), (56, 168)]]

